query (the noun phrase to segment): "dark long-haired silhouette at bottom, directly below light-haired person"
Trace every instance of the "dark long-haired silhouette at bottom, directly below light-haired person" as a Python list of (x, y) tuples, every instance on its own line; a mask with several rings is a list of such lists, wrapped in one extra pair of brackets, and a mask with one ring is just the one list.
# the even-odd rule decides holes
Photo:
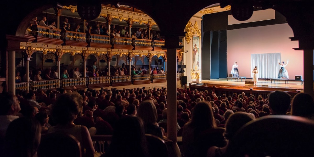
[(136, 116), (124, 116), (118, 120), (106, 157), (148, 157), (143, 121)]

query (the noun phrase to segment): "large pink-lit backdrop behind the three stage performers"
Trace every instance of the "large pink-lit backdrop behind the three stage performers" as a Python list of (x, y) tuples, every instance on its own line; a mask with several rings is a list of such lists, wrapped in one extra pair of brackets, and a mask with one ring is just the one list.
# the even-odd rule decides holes
[(303, 76), (303, 51), (293, 49), (299, 47), (297, 41), (290, 41), (289, 37), (293, 36), (288, 24), (228, 30), (228, 73), (234, 62), (237, 62), (240, 76), (251, 77), (251, 54), (281, 53), (281, 61), (290, 60), (286, 66), (289, 78), (294, 79), (295, 75)]

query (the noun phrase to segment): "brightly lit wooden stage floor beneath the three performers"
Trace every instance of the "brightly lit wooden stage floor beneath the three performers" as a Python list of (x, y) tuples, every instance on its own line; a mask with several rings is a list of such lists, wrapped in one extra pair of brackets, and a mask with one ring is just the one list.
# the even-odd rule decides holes
[[(252, 79), (246, 78), (246, 81), (252, 81)], [(281, 81), (275, 81), (275, 83), (271, 83), (270, 80), (265, 80), (265, 79), (258, 79), (257, 85), (253, 84), (245, 84), (244, 79), (241, 82), (241, 79), (237, 81), (236, 79), (229, 79), (227, 81), (227, 78), (219, 78), (219, 79), (211, 79), (211, 80), (202, 80), (200, 83), (208, 83), (208, 84), (217, 84), (217, 85), (231, 85), (231, 86), (244, 86), (244, 87), (264, 87), (262, 85), (268, 85), (268, 88), (285, 88), (285, 89), (298, 89), (303, 92), (304, 85), (299, 82), (299, 81), (291, 81), (289, 84), (285, 84), (284, 80)]]

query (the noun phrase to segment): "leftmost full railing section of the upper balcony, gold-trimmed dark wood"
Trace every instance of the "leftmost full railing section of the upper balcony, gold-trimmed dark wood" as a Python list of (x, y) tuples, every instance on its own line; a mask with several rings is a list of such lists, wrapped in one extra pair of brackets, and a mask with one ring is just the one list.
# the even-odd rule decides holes
[(33, 26), (32, 27), (33, 35), (37, 35), (39, 37), (50, 38), (50, 39), (60, 39), (61, 30), (59, 29), (51, 29), (43, 26)]

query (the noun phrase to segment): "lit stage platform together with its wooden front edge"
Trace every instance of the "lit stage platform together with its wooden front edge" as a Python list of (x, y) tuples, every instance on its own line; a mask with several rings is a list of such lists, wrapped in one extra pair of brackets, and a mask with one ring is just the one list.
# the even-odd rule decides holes
[[(252, 79), (247, 79), (248, 81), (252, 81)], [(284, 81), (276, 81), (275, 83), (271, 83), (271, 80), (260, 79), (257, 82), (257, 85), (245, 84), (244, 80), (236, 81), (233, 79), (232, 81), (227, 81), (226, 78), (220, 79), (211, 79), (211, 80), (202, 80), (203, 86), (213, 87), (217, 86), (219, 88), (229, 88), (229, 89), (250, 89), (253, 90), (264, 90), (264, 91), (275, 91), (275, 90), (283, 90), (283, 91), (296, 91), (300, 90), (303, 92), (304, 85), (298, 81), (291, 82), (289, 84), (285, 84)], [(264, 85), (264, 86), (263, 86)], [(265, 86), (268, 85), (268, 86)]]

